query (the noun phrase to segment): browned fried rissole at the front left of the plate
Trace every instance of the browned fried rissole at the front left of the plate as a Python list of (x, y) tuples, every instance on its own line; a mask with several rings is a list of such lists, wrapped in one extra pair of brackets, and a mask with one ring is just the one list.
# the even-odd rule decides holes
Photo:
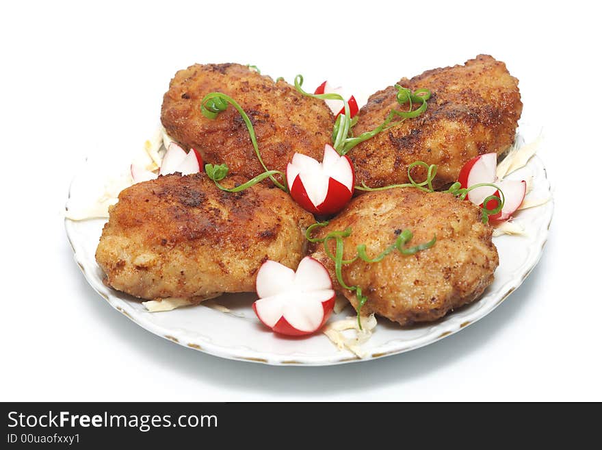
[[(228, 177), (226, 186), (244, 180)], [(228, 184), (230, 183), (230, 184)], [(143, 299), (254, 290), (267, 260), (296, 268), (313, 216), (277, 188), (219, 190), (203, 173), (123, 190), (96, 250), (107, 284)]]

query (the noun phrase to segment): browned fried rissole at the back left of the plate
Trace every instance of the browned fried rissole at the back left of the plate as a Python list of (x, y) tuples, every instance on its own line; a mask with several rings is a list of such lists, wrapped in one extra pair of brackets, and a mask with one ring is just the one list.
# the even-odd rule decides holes
[(185, 148), (205, 162), (225, 163), (230, 173), (252, 178), (263, 173), (240, 114), (228, 105), (211, 120), (200, 111), (210, 92), (229, 95), (248, 114), (263, 162), (285, 171), (293, 154), (322, 159), (335, 118), (322, 100), (304, 97), (284, 81), (259, 75), (240, 64), (195, 64), (176, 73), (163, 97), (161, 122)]

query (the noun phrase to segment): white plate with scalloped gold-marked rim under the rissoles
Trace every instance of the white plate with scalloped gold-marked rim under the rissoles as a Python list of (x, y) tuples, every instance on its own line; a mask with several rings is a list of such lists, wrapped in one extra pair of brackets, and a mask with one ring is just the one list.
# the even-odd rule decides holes
[[(521, 132), (525, 135), (523, 127)], [(535, 136), (526, 137), (527, 142), (530, 142)], [(551, 196), (545, 168), (537, 156), (508, 178), (523, 179), (529, 175), (534, 177), (534, 190), (529, 195), (536, 198)], [(105, 177), (106, 168), (88, 160), (86, 169), (73, 180), (68, 205), (97, 198), (99, 180)], [(379, 318), (373, 336), (362, 347), (367, 355), (363, 360), (423, 347), (460, 331), (493, 311), (519, 287), (539, 261), (547, 240), (552, 212), (552, 201), (537, 208), (523, 210), (514, 220), (524, 227), (526, 236), (506, 235), (494, 238), (499, 252), (499, 267), (495, 271), (493, 284), (480, 300), (448, 314), (440, 321), (408, 329)], [(250, 306), (255, 299), (252, 294), (224, 295), (216, 299), (231, 310), (228, 313), (203, 305), (170, 312), (147, 312), (139, 300), (103, 284), (103, 273), (94, 260), (94, 253), (105, 220), (65, 222), (75, 260), (92, 288), (113, 308), (158, 336), (222, 358), (265, 364), (328, 365), (360, 361), (350, 351), (339, 351), (324, 334), (308, 338), (282, 338), (273, 334), (254, 315)], [(353, 311), (347, 308), (330, 320), (339, 320), (352, 314)]]

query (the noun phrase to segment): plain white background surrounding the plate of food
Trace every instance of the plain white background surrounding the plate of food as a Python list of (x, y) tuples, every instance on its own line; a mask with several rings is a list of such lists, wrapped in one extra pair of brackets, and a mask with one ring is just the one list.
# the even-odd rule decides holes
[[(0, 400), (602, 400), (602, 39), (588, 4), (3, 2)], [(73, 261), (70, 179), (88, 154), (142, 145), (177, 69), (251, 63), (370, 92), (478, 53), (506, 62), (523, 118), (544, 129), (555, 216), (523, 286), (462, 332), (344, 366), (222, 360), (138, 327)]]

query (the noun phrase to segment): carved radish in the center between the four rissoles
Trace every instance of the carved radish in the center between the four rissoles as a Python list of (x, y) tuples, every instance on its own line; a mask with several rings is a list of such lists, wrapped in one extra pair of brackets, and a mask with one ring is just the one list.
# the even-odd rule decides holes
[(291, 197), (312, 214), (329, 215), (342, 210), (353, 195), (355, 173), (351, 160), (324, 146), (324, 158), (295, 153), (287, 165)]

